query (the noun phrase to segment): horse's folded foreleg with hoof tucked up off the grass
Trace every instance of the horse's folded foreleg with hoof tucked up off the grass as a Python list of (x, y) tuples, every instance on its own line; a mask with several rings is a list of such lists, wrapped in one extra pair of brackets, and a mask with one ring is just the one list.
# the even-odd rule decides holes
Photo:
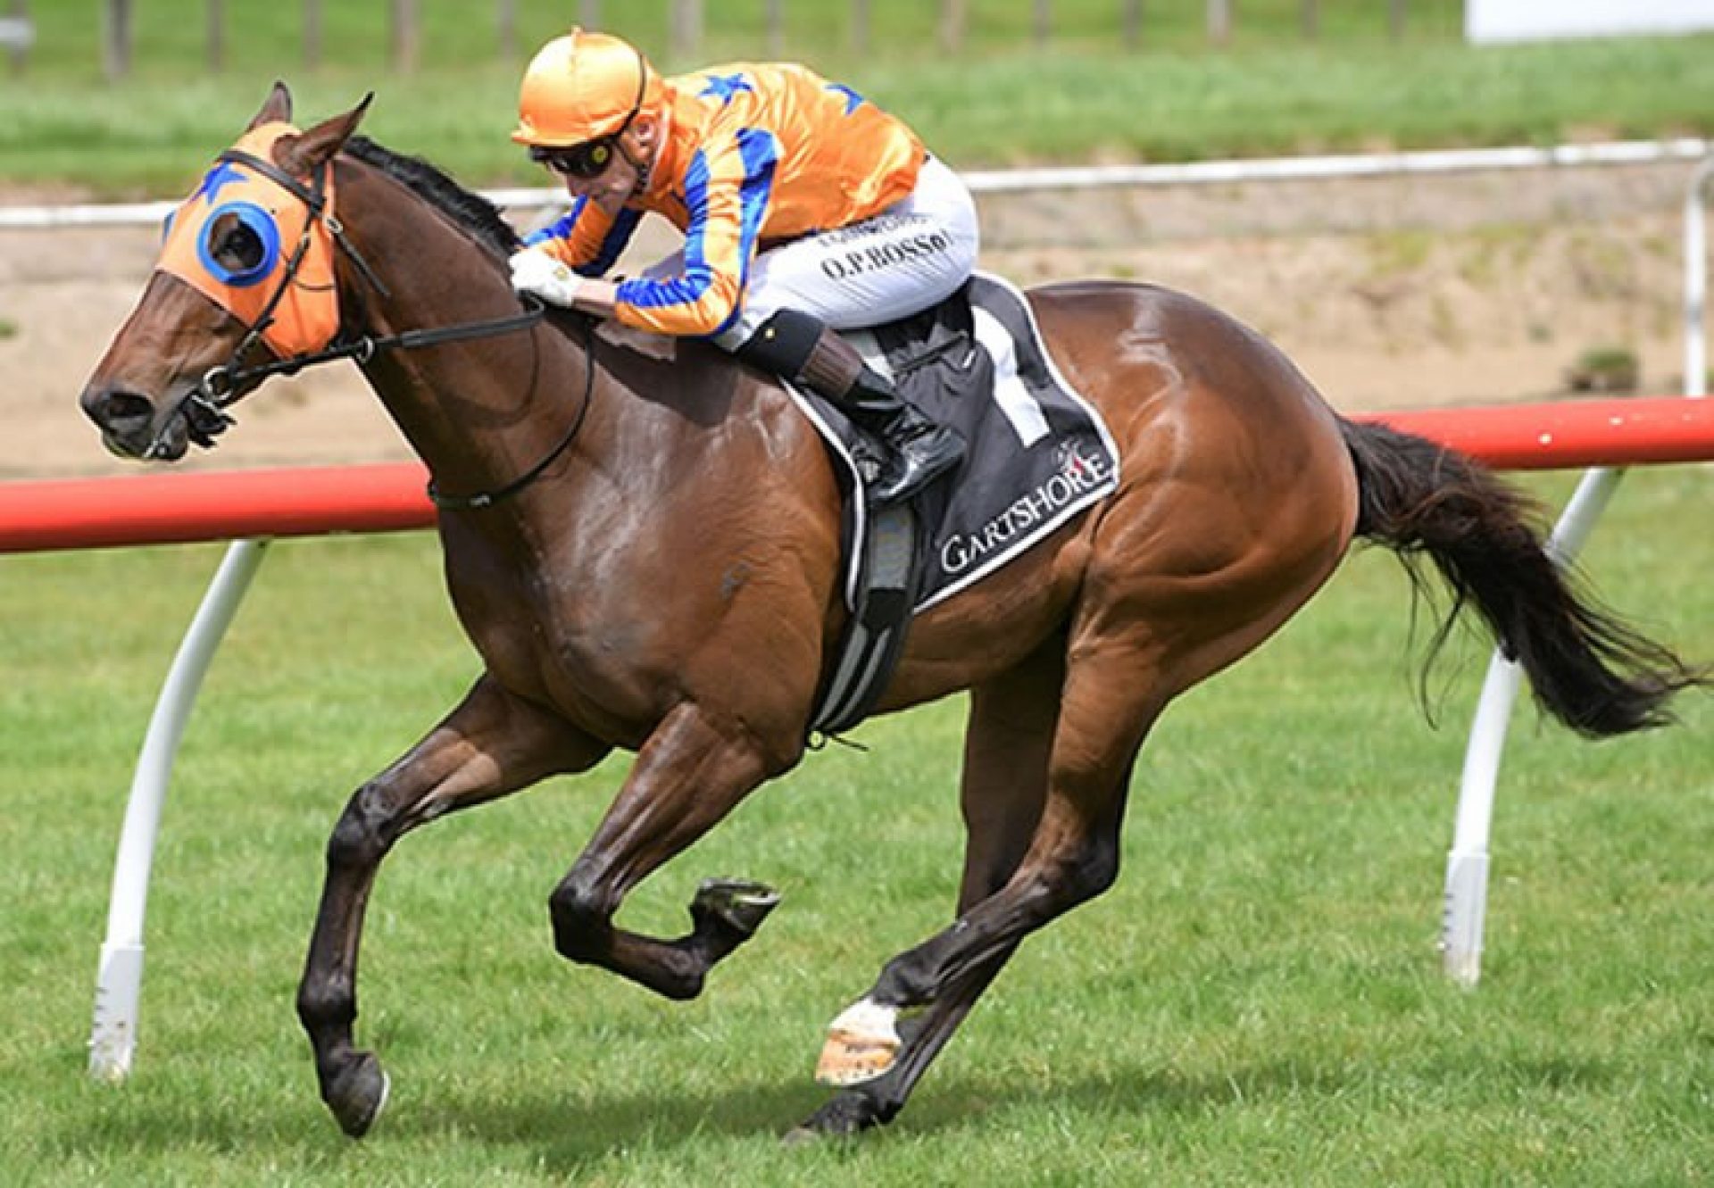
[(660, 941), (617, 929), (624, 897), (682, 852), (770, 775), (758, 741), (740, 723), (682, 703), (638, 753), (631, 777), (588, 847), (548, 898), (554, 946), (667, 998), (696, 998), (703, 977), (747, 941), (778, 903), (761, 883), (703, 883), (692, 931)]

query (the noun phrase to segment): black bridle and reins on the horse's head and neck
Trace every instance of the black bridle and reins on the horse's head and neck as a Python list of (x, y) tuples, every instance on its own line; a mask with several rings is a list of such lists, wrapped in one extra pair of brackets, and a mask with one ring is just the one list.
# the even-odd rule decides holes
[[(523, 295), (524, 312), (512, 314), (509, 317), (495, 317), (478, 322), (459, 322), (454, 326), (442, 326), (435, 329), (408, 329), (398, 334), (363, 334), (362, 338), (343, 338), (336, 336), (327, 346), (321, 350), (300, 351), (285, 358), (273, 358), (254, 367), (243, 367), (243, 357), (262, 341), (264, 333), (274, 321), (274, 312), (285, 300), (286, 293), (297, 281), (298, 269), (303, 266), (309, 255), (315, 226), (326, 228), (327, 235), (333, 237), (334, 245), (339, 252), (351, 261), (357, 273), (363, 281), (374, 288), (382, 297), (391, 297), (391, 290), (386, 283), (375, 276), (375, 271), (363, 259), (363, 254), (357, 250), (351, 240), (345, 233), (345, 225), (333, 211), (333, 202), (327, 201), (327, 175), (333, 170), (331, 161), (324, 161), (321, 168), (315, 170), (310, 183), (303, 183), (281, 170), (273, 161), (267, 161), (254, 153), (243, 149), (226, 149), (219, 154), (218, 163), (225, 165), (242, 165), (247, 170), (254, 170), (274, 185), (281, 187), (295, 199), (303, 202), (309, 209), (310, 218), (303, 223), (303, 233), (298, 237), (298, 243), (291, 255), (286, 259), (285, 273), (279, 278), (279, 285), (269, 295), (267, 303), (255, 321), (247, 327), (245, 336), (233, 348), (231, 355), (225, 363), (211, 367), (204, 372), (197, 386), (192, 387), (185, 396), (178, 399), (173, 411), (161, 420), (161, 429), (156, 432), (149, 447), (144, 451), (144, 458), (161, 458), (166, 453), (166, 434), (175, 420), (182, 417), (185, 422), (185, 432), (197, 446), (209, 449), (214, 446), (214, 437), (226, 432), (237, 422), (226, 410), (238, 403), (255, 384), (273, 377), (273, 375), (295, 375), (305, 367), (315, 367), (317, 363), (331, 363), (343, 358), (357, 360), (358, 367), (365, 365), (377, 351), (382, 350), (418, 350), (423, 346), (444, 346), (447, 343), (461, 343), (475, 338), (492, 338), (497, 334), (512, 334), (516, 331), (533, 329), (542, 322), (547, 314), (547, 307), (533, 295)], [(576, 441), (583, 422), (590, 413), (590, 403), (595, 396), (595, 324), (590, 319), (579, 319), (584, 331), (584, 379), (583, 379), (583, 399), (578, 406), (578, 415), (571, 422), (571, 429), (555, 442), (555, 446), (542, 458), (542, 461), (530, 466), (518, 478), (497, 487), (494, 490), (476, 492), (470, 495), (447, 495), (442, 494), (434, 478), (428, 480), (428, 499), (435, 507), (447, 511), (476, 511), (482, 507), (490, 507), (497, 502), (511, 499), (519, 494), (524, 487), (540, 478), (554, 461), (559, 459), (571, 442)]]

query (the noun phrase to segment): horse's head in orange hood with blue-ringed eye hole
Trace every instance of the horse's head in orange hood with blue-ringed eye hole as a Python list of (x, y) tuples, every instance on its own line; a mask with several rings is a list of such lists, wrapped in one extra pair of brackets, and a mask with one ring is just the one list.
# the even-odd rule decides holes
[(276, 82), (245, 134), (168, 216), (137, 309), (79, 405), (122, 458), (213, 446), (225, 410), (339, 331), (333, 170), (369, 98), (303, 132)]

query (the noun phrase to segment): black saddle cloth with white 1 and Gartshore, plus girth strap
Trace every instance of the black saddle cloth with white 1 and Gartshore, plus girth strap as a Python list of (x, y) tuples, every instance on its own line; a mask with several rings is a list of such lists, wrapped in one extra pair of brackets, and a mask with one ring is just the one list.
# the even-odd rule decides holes
[[(847, 334), (869, 365), (929, 418), (958, 430), (963, 465), (914, 507), (922, 612), (1054, 531), (1118, 485), (1119, 451), (1095, 410), (1059, 374), (1023, 293), (977, 273), (941, 305), (902, 322)], [(838, 459), (847, 495), (872, 477), (871, 444), (833, 405), (788, 387)], [(860, 602), (869, 509), (845, 501), (845, 602)]]

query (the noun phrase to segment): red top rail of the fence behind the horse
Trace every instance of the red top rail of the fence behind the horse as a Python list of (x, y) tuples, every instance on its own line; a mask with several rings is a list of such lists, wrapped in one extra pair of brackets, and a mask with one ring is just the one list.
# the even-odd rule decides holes
[[(1659, 396), (1364, 413), (1500, 470), (1714, 458), (1714, 399)], [(0, 552), (317, 537), (434, 525), (417, 463), (0, 483)]]

